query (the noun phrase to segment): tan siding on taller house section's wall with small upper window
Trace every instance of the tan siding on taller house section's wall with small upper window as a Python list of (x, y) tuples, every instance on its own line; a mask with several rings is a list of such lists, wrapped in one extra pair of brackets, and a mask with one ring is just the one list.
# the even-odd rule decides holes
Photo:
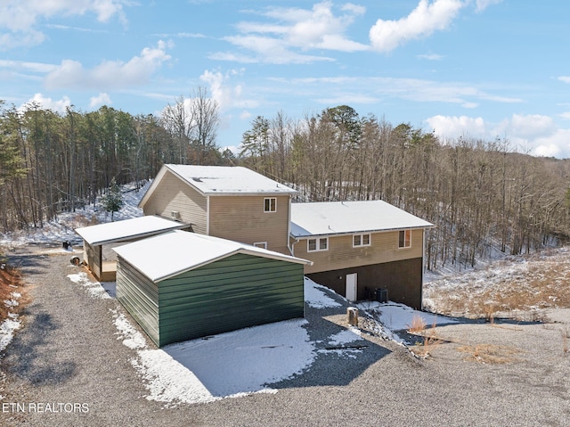
[(264, 212), (264, 199), (271, 196), (210, 197), (209, 234), (235, 242), (267, 242), (268, 250), (290, 255), (289, 195), (278, 196), (277, 210)]

